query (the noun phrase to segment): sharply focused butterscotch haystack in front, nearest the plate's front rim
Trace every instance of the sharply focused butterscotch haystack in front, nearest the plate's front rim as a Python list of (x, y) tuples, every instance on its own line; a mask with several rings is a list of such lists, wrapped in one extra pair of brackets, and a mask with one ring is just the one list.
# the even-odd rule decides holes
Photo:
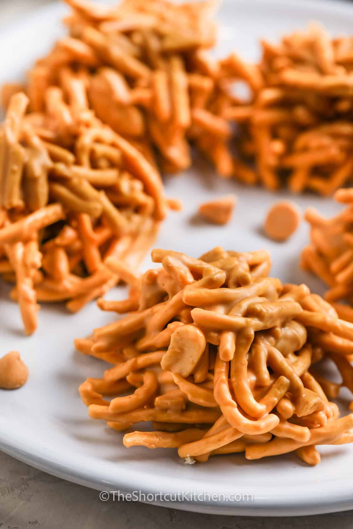
[[(128, 314), (75, 341), (112, 364), (79, 388), (90, 417), (127, 431), (125, 446), (176, 448), (198, 462), (294, 452), (314, 465), (315, 445), (353, 440), (353, 414), (339, 418), (329, 400), (341, 386), (353, 391), (352, 323), (306, 285), (268, 277), (266, 251), (217, 247), (194, 259), (156, 249), (152, 260), (161, 267), (140, 276), (106, 261), (130, 295), (99, 299), (101, 309)], [(319, 375), (324, 358), (340, 383)], [(155, 431), (133, 431), (150, 421)]]

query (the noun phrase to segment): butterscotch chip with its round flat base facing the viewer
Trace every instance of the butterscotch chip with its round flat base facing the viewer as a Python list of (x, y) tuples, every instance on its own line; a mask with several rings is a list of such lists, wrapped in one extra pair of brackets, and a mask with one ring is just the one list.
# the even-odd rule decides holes
[(264, 224), (266, 235), (274, 241), (285, 241), (295, 232), (301, 213), (293, 202), (281, 200), (268, 211)]

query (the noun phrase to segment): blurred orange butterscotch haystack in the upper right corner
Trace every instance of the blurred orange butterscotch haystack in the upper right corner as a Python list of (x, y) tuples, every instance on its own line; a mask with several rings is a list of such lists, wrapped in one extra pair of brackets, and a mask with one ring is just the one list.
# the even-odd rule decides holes
[(285, 179), (294, 193), (331, 195), (353, 175), (352, 38), (312, 23), (261, 47), (254, 101), (225, 113), (242, 124), (241, 151), (269, 189)]

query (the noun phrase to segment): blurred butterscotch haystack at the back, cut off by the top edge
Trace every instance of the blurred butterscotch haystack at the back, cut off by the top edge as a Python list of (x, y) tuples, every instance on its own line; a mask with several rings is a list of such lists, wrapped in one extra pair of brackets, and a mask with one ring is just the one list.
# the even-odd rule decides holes
[[(233, 175), (231, 127), (222, 112), (238, 99), (220, 63), (206, 52), (215, 44), (215, 2), (67, 3), (69, 35), (29, 72), (24, 88), (31, 110), (43, 110), (49, 87), (56, 87), (60, 103), (83, 83), (79, 101), (153, 165), (166, 172), (186, 169), (192, 140), (221, 174)], [(19, 85), (4, 87), (5, 105), (12, 90)]]

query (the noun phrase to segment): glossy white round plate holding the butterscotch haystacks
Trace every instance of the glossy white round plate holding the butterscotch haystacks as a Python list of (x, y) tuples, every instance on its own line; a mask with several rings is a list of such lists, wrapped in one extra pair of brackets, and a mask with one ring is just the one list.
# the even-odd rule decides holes
[[(61, 33), (62, 5), (53, 4), (23, 20), (0, 36), (2, 71), (0, 81), (23, 76), (33, 60), (43, 54)], [(351, 32), (353, 7), (339, 2), (295, 0), (226, 0), (219, 15), (219, 53), (238, 50), (256, 59), (258, 39), (277, 39), (280, 34), (320, 20), (333, 34)], [(215, 245), (226, 249), (266, 248), (273, 256), (272, 274), (283, 281), (305, 281), (316, 292), (322, 285), (298, 268), (298, 252), (307, 241), (303, 223), (293, 238), (277, 244), (264, 238), (261, 223), (270, 204), (288, 197), (264, 189), (245, 188), (216, 178), (203, 161), (192, 170), (166, 180), (167, 194), (183, 200), (182, 213), (171, 213), (164, 223), (157, 246), (198, 256)], [(194, 222), (197, 204), (224, 193), (237, 193), (234, 218), (225, 227)], [(295, 198), (302, 209), (309, 205), (332, 215), (339, 206), (315, 196)], [(143, 269), (151, 265), (146, 259)], [(153, 499), (158, 505), (219, 514), (298, 515), (326, 513), (353, 508), (353, 446), (320, 449), (317, 467), (302, 464), (294, 455), (247, 461), (243, 454), (212, 458), (207, 464), (185, 466), (175, 450), (125, 449), (122, 434), (87, 416), (77, 387), (88, 376), (104, 371), (102, 362), (74, 351), (73, 340), (93, 327), (111, 321), (91, 304), (77, 315), (65, 308), (44, 306), (38, 332), (22, 334), (18, 307), (6, 299), (1, 284), (0, 355), (18, 349), (30, 369), (27, 384), (20, 390), (0, 393), (0, 449), (41, 470), (99, 490), (144, 494), (182, 493), (184, 500)], [(115, 289), (109, 298), (123, 297)], [(191, 500), (191, 492), (204, 494)], [(207, 496), (207, 494), (210, 495)], [(218, 500), (212, 495), (220, 494)], [(222, 497), (224, 495), (224, 499)], [(230, 494), (252, 495), (253, 500), (227, 501)], [(236, 499), (239, 496), (236, 496)], [(143, 496), (142, 496), (143, 499)], [(146, 498), (151, 501), (151, 497)]]

